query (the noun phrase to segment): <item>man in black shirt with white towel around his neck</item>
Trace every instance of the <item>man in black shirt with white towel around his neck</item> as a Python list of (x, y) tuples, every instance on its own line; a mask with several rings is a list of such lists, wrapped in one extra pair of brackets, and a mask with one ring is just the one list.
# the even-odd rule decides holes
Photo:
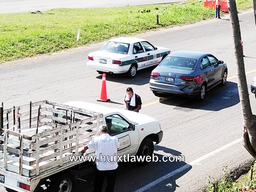
[(141, 109), (141, 98), (139, 95), (133, 92), (132, 88), (126, 89), (124, 102), (125, 108), (129, 111), (139, 112), (139, 110)]

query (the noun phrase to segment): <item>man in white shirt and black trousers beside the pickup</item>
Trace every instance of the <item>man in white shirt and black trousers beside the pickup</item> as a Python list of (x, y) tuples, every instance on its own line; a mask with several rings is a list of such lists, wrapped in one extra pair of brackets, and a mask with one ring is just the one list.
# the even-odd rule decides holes
[(95, 149), (97, 159), (97, 173), (94, 182), (94, 192), (101, 192), (104, 177), (108, 181), (105, 192), (114, 191), (114, 185), (116, 180), (117, 164), (117, 149), (119, 148), (119, 142), (116, 137), (110, 136), (108, 127), (104, 124), (99, 126), (99, 135), (93, 138), (86, 146), (84, 146), (82, 152), (86, 152), (88, 148)]

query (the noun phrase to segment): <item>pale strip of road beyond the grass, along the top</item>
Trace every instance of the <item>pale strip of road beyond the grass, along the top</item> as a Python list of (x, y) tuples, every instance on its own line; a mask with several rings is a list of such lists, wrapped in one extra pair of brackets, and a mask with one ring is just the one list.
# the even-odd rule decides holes
[(92, 8), (92, 7), (120, 7), (146, 4), (165, 4), (181, 2), (181, 0), (1, 0), (0, 13), (19, 13), (47, 11), (56, 8)]

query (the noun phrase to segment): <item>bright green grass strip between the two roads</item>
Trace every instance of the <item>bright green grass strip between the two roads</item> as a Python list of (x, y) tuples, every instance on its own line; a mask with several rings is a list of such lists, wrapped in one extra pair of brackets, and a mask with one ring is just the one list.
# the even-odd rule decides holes
[[(239, 9), (252, 7), (252, 0), (238, 2)], [(195, 0), (165, 5), (54, 9), (43, 14), (0, 14), (0, 63), (89, 45), (114, 36), (195, 23), (213, 16), (214, 10)]]

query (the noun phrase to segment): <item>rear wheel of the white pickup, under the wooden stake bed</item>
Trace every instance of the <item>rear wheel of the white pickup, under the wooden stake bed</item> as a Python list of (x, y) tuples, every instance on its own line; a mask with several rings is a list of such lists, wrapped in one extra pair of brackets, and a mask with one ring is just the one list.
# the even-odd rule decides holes
[(70, 174), (59, 175), (59, 178), (53, 181), (50, 192), (72, 192), (75, 186), (75, 179)]

